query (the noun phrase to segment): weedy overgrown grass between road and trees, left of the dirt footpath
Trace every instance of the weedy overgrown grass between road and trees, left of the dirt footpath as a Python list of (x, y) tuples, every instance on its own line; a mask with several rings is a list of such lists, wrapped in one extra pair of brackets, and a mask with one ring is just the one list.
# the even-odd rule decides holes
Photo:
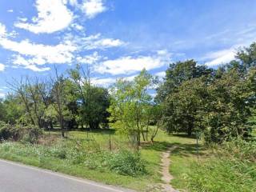
[[(67, 138), (61, 139), (58, 132), (50, 132), (45, 133), (38, 145), (2, 142), (0, 158), (138, 191), (152, 191), (154, 184), (161, 182), (158, 172), (164, 149), (154, 149), (146, 143), (138, 153), (126, 138), (111, 133), (70, 131)], [(158, 148), (158, 142), (155, 146)]]

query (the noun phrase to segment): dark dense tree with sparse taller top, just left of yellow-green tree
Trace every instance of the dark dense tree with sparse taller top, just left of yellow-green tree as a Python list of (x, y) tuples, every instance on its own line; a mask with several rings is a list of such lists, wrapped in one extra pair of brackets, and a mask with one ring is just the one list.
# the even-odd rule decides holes
[(69, 74), (78, 97), (82, 126), (84, 123), (90, 129), (98, 129), (100, 124), (106, 126), (109, 117), (106, 109), (110, 106), (108, 90), (91, 85), (89, 69), (85, 71), (81, 66), (77, 66), (70, 70)]

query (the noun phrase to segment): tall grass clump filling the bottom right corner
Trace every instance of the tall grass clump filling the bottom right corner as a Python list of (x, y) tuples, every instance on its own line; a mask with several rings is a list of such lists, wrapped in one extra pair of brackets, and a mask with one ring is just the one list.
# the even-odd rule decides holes
[(212, 158), (192, 163), (186, 174), (190, 191), (256, 191), (256, 142), (226, 142), (212, 152)]

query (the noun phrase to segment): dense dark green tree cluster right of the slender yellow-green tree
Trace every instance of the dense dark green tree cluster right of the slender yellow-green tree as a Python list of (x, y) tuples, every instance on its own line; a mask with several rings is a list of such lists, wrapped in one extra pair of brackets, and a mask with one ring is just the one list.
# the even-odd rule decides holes
[(170, 64), (158, 88), (168, 132), (201, 134), (206, 142), (250, 138), (255, 124), (256, 43), (211, 69), (194, 60)]

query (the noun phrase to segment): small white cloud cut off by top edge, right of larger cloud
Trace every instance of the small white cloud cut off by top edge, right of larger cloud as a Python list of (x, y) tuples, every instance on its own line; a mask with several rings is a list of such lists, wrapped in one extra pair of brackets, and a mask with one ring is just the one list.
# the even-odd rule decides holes
[(86, 14), (87, 18), (94, 18), (106, 10), (102, 0), (84, 0), (82, 2), (82, 11)]

